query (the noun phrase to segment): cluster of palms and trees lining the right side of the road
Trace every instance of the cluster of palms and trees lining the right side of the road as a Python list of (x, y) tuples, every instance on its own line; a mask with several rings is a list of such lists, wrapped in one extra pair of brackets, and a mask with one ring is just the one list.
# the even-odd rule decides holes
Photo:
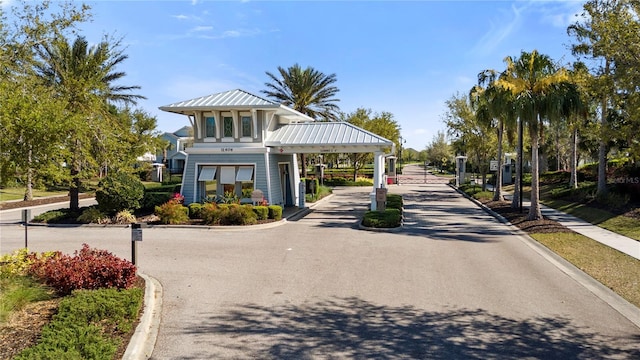
[[(517, 150), (512, 207), (521, 206), (523, 149), (525, 141), (528, 143), (528, 220), (542, 218), (540, 156), (550, 151), (550, 143), (557, 150), (556, 167), (571, 171), (570, 185), (575, 188), (583, 138), (583, 153), (586, 157), (597, 154), (598, 158), (597, 195), (605, 195), (608, 189), (608, 156), (617, 154), (628, 164), (640, 160), (640, 142), (632, 135), (640, 130), (640, 76), (636, 76), (640, 68), (640, 5), (627, 0), (591, 0), (584, 9), (582, 20), (568, 28), (576, 40), (573, 54), (581, 61), (561, 66), (536, 50), (523, 51), (519, 56), (506, 57), (501, 71), (481, 71), (466, 98), (454, 97), (447, 103), (445, 120), (459, 151), (478, 152), (477, 144), (475, 148), (471, 144), (474, 136), (482, 138), (494, 131), (497, 151), (493, 154), (498, 169), (502, 169), (505, 134), (508, 144)], [(570, 144), (570, 160), (563, 165), (559, 150), (562, 138)], [(494, 200), (502, 198), (502, 183), (502, 171), (498, 171)]]

